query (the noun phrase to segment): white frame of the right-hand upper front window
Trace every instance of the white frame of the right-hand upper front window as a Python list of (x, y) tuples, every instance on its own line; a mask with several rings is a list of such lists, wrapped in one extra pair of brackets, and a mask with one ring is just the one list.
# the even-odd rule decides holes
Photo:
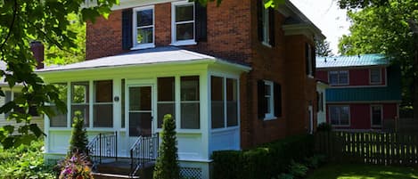
[[(193, 20), (176, 22), (176, 6), (178, 5), (193, 5)], [(176, 40), (176, 25), (191, 23), (193, 22), (193, 39), (189, 40)], [(171, 3), (171, 45), (180, 46), (180, 45), (196, 45), (196, 5), (194, 2), (181, 1)]]

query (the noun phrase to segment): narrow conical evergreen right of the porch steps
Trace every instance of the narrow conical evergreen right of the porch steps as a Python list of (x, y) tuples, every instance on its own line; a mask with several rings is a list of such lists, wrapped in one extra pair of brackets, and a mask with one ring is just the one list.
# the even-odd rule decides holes
[(153, 179), (179, 179), (180, 167), (178, 167), (176, 122), (170, 114), (164, 116), (161, 132), (160, 157), (157, 159), (152, 178)]

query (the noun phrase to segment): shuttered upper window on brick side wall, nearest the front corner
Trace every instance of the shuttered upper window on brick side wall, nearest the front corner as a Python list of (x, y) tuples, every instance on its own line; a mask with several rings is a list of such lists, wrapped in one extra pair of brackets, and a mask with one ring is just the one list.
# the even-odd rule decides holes
[(258, 40), (266, 46), (275, 45), (275, 11), (258, 1)]

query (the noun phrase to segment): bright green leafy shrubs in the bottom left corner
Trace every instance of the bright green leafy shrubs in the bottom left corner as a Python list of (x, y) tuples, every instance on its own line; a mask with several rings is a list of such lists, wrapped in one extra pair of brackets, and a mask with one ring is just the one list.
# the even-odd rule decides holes
[(44, 165), (43, 146), (43, 140), (39, 140), (8, 150), (0, 147), (0, 178), (54, 179), (52, 167)]

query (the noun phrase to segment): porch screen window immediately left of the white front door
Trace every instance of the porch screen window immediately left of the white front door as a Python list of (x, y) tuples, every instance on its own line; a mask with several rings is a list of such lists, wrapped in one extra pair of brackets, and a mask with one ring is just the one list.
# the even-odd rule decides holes
[(112, 86), (111, 80), (94, 81), (94, 127), (113, 126)]

